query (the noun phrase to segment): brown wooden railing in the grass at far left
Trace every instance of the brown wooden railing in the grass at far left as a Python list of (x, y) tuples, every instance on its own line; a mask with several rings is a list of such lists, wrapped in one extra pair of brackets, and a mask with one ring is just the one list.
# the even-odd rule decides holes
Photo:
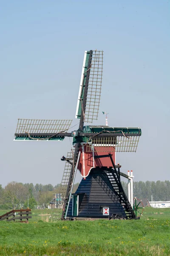
[(10, 212), (6, 212), (5, 214), (0, 216), (0, 221), (15, 221), (20, 220), (23, 221), (26, 220), (28, 222), (28, 218), (32, 218), (31, 215), (31, 209), (20, 209), (20, 210), (12, 210)]

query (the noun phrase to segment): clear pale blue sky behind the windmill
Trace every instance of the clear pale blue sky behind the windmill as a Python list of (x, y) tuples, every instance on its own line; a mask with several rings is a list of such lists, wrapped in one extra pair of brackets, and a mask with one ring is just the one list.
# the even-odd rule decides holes
[[(75, 119), (85, 50), (103, 50), (94, 125), (141, 127), (117, 153), (135, 181), (170, 180), (170, 1), (0, 1), (0, 184), (61, 182), (63, 142), (17, 142), (17, 118)], [(78, 125), (77, 125), (78, 127)], [(76, 181), (80, 181), (77, 175)]]

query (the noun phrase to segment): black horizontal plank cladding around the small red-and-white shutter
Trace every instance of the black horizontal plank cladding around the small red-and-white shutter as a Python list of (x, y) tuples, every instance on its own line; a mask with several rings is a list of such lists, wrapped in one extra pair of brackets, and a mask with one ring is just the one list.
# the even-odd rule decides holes
[[(87, 185), (86, 185), (87, 184)], [(102, 214), (102, 207), (110, 207), (110, 215), (119, 214), (126, 218), (125, 210), (114, 192), (113, 186), (106, 172), (101, 169), (91, 172), (86, 180), (82, 180), (76, 191), (86, 193), (79, 207), (78, 217), (108, 218)], [(71, 217), (72, 203), (68, 209), (68, 216)]]

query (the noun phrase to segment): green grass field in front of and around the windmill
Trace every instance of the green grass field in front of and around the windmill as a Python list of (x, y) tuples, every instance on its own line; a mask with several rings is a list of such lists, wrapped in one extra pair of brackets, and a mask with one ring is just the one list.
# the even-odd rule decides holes
[(145, 208), (140, 220), (57, 221), (51, 210), (32, 213), (28, 224), (0, 221), (0, 255), (170, 255), (170, 208)]

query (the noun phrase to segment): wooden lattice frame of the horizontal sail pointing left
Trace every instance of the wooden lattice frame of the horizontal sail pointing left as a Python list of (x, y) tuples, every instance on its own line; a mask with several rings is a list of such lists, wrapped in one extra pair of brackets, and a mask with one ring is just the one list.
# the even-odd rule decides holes
[(18, 119), (16, 134), (58, 133), (68, 130), (72, 120)]

